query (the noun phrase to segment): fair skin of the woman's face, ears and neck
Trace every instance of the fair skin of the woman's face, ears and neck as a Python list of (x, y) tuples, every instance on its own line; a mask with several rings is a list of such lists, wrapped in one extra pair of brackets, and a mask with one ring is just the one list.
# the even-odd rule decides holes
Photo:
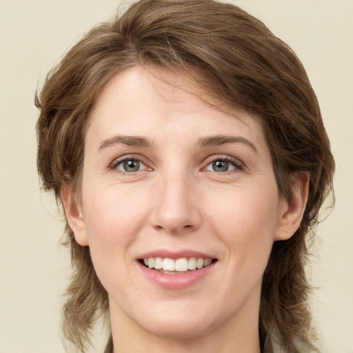
[[(117, 74), (90, 117), (81, 201), (63, 187), (75, 239), (90, 246), (108, 292), (115, 352), (260, 352), (263, 271), (273, 242), (299, 227), (307, 180), (296, 178), (293, 199), (283, 199), (259, 119), (211, 108), (201, 94), (183, 74), (139, 66)], [(201, 143), (215, 135), (236, 141)], [(124, 172), (124, 157), (140, 169)], [(228, 170), (214, 170), (223, 159)], [(217, 261), (190, 287), (168, 290), (137, 262), (161, 249)]]

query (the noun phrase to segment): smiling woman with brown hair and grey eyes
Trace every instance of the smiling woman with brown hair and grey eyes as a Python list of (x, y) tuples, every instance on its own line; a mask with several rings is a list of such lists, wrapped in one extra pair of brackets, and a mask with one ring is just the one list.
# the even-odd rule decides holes
[(315, 351), (303, 265), (332, 190), (295, 54), (210, 0), (142, 0), (65, 55), (36, 99), (38, 168), (62, 203), (81, 352)]

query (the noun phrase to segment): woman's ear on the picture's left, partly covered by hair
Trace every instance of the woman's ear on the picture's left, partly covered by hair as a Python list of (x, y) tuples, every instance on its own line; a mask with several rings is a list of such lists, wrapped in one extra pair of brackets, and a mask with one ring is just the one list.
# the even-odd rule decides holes
[(88, 237), (85, 231), (85, 221), (82, 216), (81, 205), (75, 200), (70, 183), (64, 183), (61, 187), (61, 202), (63, 203), (68, 225), (72, 232), (74, 232), (74, 239), (79, 245), (87, 246)]

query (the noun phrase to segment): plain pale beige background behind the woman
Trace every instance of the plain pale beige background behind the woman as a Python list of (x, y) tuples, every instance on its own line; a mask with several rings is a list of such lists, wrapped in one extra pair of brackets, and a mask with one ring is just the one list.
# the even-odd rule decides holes
[[(62, 353), (61, 293), (70, 274), (61, 216), (40, 194), (34, 91), (80, 34), (119, 0), (0, 0), (0, 352)], [(353, 352), (353, 1), (239, 0), (302, 59), (336, 156), (336, 208), (311, 271), (323, 353)]]

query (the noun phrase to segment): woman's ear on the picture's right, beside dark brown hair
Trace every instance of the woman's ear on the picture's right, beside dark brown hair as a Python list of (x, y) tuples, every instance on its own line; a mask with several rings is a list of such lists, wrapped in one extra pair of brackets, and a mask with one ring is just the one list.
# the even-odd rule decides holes
[(303, 219), (309, 190), (309, 174), (294, 174), (293, 183), (292, 198), (283, 198), (281, 201), (274, 241), (290, 239)]

